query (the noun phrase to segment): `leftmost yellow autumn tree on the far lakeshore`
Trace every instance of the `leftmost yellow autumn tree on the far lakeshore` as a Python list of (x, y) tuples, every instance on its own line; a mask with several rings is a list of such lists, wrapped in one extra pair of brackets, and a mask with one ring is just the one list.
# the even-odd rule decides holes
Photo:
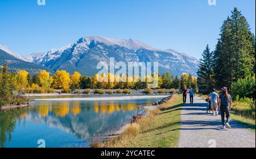
[(26, 70), (20, 70), (16, 74), (16, 88), (18, 88), (18, 90), (22, 91), (23, 93), (28, 85), (27, 76), (28, 72), (26, 72)]

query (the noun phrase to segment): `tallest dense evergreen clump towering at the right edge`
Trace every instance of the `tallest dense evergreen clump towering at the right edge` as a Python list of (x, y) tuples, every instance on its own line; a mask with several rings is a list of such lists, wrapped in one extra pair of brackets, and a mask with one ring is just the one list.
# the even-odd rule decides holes
[(224, 21), (214, 51), (216, 86), (232, 88), (232, 83), (255, 73), (255, 37), (241, 12), (234, 8)]

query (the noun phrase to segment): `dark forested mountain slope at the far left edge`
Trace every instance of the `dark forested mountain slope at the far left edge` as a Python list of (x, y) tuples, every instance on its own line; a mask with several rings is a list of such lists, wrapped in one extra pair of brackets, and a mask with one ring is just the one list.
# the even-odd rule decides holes
[(26, 70), (28, 73), (35, 74), (38, 73), (40, 70), (45, 69), (48, 72), (53, 73), (53, 70), (50, 68), (20, 60), (19, 58), (16, 58), (13, 55), (10, 55), (9, 53), (0, 49), (0, 66), (5, 64), (8, 64), (9, 70), (12, 70), (14, 72), (23, 69)]

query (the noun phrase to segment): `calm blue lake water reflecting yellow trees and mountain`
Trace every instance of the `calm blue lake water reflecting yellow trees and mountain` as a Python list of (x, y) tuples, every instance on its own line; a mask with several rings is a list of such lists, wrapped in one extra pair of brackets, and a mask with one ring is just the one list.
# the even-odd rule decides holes
[(143, 113), (143, 106), (159, 99), (35, 101), (30, 108), (0, 112), (0, 147), (33, 148), (40, 139), (46, 147), (89, 147), (94, 137), (117, 130), (134, 114)]

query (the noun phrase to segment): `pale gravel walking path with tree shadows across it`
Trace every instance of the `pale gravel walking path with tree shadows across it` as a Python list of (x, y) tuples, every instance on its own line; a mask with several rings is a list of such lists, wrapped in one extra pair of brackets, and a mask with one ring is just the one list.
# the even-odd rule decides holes
[[(187, 103), (190, 103), (189, 96)], [(194, 97), (194, 104), (183, 104), (178, 147), (255, 148), (255, 132), (243, 128), (243, 125), (232, 120), (230, 122), (232, 129), (226, 131), (220, 129), (221, 116), (207, 114), (206, 107), (205, 100), (199, 97)]]

